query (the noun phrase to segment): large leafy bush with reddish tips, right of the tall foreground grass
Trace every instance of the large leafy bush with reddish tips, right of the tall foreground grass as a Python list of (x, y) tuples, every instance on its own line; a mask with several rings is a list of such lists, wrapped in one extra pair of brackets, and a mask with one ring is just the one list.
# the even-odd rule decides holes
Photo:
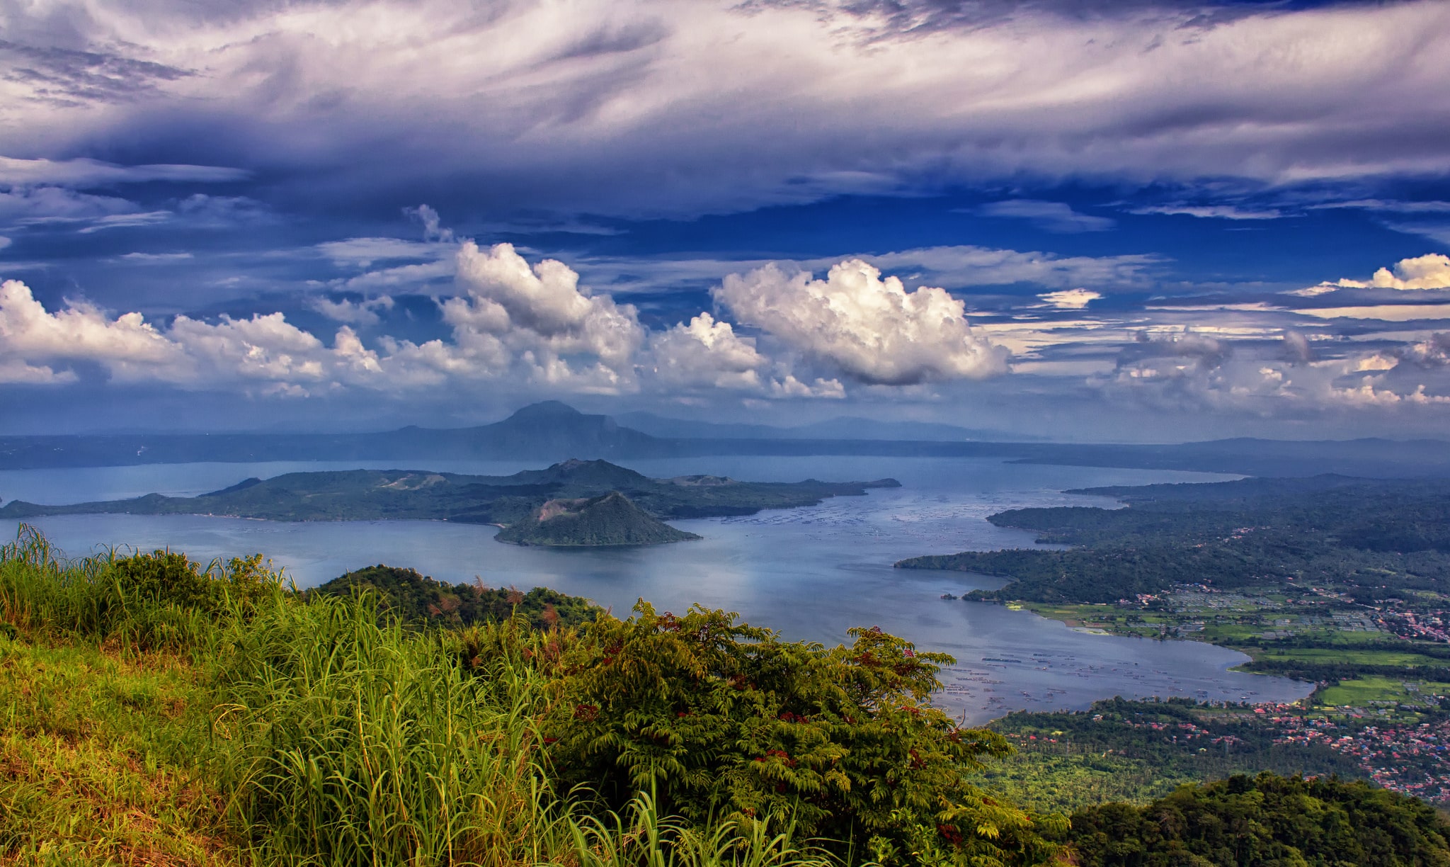
[[(734, 615), (641, 602), (551, 660), (545, 732), (563, 777), (606, 796), (658, 792), (695, 822), (793, 821), (889, 863), (1032, 864), (1032, 818), (969, 781), (1008, 752), (924, 703), (942, 654), (879, 629), (853, 647), (784, 642)], [(925, 829), (925, 831), (922, 831)]]

